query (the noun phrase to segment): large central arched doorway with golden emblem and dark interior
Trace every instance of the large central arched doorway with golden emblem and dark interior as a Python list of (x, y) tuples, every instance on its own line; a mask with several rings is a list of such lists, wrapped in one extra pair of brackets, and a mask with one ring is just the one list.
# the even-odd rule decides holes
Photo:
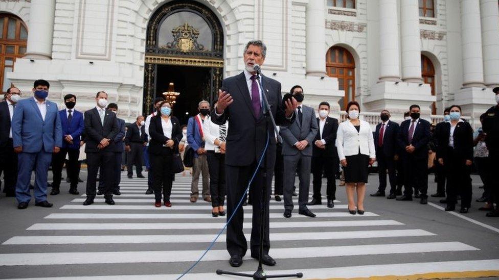
[(170, 83), (180, 93), (172, 113), (180, 123), (197, 114), (200, 100), (213, 103), (223, 72), (223, 31), (213, 11), (194, 1), (158, 9), (147, 28), (144, 72), (144, 114)]

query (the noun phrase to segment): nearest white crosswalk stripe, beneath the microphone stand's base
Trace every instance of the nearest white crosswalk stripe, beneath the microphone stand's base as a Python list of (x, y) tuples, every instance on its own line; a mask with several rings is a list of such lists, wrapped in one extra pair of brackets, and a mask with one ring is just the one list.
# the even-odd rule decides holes
[[(252, 261), (255, 262), (256, 261)], [(456, 262), (427, 262), (427, 263), (401, 263), (388, 265), (364, 265), (347, 267), (330, 267), (295, 270), (267, 270), (271, 275), (294, 274), (302, 272), (304, 279), (325, 278), (360, 278), (360, 277), (382, 277), (388, 275), (407, 276), (415, 274), (426, 274), (434, 272), (468, 272), (468, 271), (492, 271), (499, 269), (499, 260), (470, 260)], [(255, 271), (242, 271), (242, 273), (253, 274)], [(67, 277), (43, 277), (43, 278), (15, 278), (15, 280), (165, 280), (176, 279), (179, 274), (151, 274), (151, 275), (100, 275), (100, 276), (67, 276)], [(189, 280), (227, 280), (227, 275), (210, 273), (189, 273), (184, 277)], [(242, 278), (241, 278), (242, 279)]]

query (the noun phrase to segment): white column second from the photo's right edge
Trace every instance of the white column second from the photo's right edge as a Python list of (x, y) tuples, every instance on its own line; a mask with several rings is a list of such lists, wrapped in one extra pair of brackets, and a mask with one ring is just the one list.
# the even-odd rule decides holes
[(480, 2), (461, 0), (463, 88), (484, 86), (481, 26)]

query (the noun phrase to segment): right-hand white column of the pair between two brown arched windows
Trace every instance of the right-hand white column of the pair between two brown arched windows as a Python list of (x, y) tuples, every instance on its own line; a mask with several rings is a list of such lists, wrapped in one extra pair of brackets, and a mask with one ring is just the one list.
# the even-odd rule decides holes
[(400, 2), (400, 41), (402, 46), (402, 81), (420, 83), (422, 79), (418, 0)]

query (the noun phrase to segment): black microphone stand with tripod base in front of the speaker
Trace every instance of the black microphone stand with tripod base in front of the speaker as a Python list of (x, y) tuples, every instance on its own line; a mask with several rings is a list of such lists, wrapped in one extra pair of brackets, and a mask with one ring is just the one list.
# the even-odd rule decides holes
[[(278, 141), (279, 143), (282, 143), (282, 138), (281, 136), (279, 135), (278, 133), (278, 130), (277, 130), (277, 125), (276, 125), (276, 121), (274, 119), (274, 116), (272, 115), (272, 112), (270, 110), (270, 105), (268, 104), (268, 99), (267, 99), (267, 95), (265, 94), (265, 90), (263, 89), (263, 86), (262, 84), (260, 83), (260, 71), (257, 70), (257, 83), (258, 83), (258, 86), (260, 87), (260, 91), (262, 92), (262, 101), (263, 101), (263, 106), (262, 106), (262, 109), (263, 109), (263, 116), (265, 118), (267, 118), (267, 121), (265, 122), (265, 126), (266, 126), (266, 131), (267, 131), (267, 141), (270, 141), (270, 135), (269, 135), (269, 132), (268, 132), (268, 119), (270, 119), (270, 122), (272, 123), (272, 125), (274, 126), (274, 131), (277, 135), (277, 138), (278, 138)], [(267, 147), (268, 148), (268, 147)], [(275, 275), (267, 275), (264, 271), (263, 271), (263, 267), (262, 267), (262, 258), (263, 258), (263, 235), (264, 235), (264, 228), (265, 228), (265, 217), (268, 216), (268, 213), (267, 213), (267, 188), (269, 188), (268, 186), (268, 180), (267, 180), (267, 155), (266, 155), (266, 150), (265, 150), (265, 157), (263, 159), (263, 184), (264, 186), (262, 186), (262, 207), (261, 207), (261, 210), (260, 210), (260, 248), (259, 248), (259, 252), (258, 252), (258, 268), (257, 268), (257, 271), (255, 271), (255, 273), (253, 274), (250, 274), (250, 273), (240, 273), (240, 272), (231, 272), (231, 271), (224, 271), (224, 270), (221, 270), (221, 269), (217, 269), (217, 274), (218, 275), (221, 275), (221, 274), (227, 274), (227, 275), (236, 275), (236, 276), (242, 276), (242, 277), (253, 277), (254, 280), (265, 280), (267, 278), (284, 278), (284, 277), (297, 277), (297, 278), (301, 278), (303, 277), (303, 273), (301, 272), (298, 272), (298, 273), (293, 273), (293, 274), (275, 274)], [(253, 203), (255, 203), (255, 201), (253, 201)]]

